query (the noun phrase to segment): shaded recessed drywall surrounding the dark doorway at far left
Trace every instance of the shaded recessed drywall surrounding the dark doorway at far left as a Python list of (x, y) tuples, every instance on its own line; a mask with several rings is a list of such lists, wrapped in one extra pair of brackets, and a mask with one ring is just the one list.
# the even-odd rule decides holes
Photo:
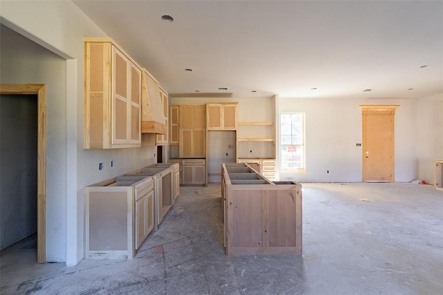
[(66, 60), (3, 25), (0, 59), (1, 84), (46, 84), (46, 258), (64, 261)]

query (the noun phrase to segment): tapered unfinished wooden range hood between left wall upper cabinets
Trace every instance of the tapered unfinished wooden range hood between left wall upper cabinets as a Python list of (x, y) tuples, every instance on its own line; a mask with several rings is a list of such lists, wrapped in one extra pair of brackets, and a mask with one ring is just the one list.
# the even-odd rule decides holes
[(157, 80), (142, 69), (142, 133), (166, 134), (163, 104)]

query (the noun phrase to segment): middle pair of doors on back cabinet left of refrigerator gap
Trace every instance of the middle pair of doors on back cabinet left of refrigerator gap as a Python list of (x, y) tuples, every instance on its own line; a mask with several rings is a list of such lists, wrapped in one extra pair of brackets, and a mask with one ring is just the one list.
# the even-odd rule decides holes
[(206, 157), (206, 130), (180, 128), (180, 158)]

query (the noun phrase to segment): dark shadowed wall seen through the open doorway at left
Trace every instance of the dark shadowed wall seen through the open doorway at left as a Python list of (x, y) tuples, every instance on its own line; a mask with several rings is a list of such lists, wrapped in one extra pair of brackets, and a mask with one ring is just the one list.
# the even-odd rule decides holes
[(37, 95), (0, 95), (0, 121), (0, 249), (4, 249), (37, 232)]

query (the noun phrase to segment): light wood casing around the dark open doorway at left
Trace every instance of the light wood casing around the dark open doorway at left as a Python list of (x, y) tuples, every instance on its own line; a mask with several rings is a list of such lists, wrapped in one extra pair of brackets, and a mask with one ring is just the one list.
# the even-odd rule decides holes
[(46, 263), (46, 84), (0, 84), (0, 94), (37, 94), (37, 263)]

